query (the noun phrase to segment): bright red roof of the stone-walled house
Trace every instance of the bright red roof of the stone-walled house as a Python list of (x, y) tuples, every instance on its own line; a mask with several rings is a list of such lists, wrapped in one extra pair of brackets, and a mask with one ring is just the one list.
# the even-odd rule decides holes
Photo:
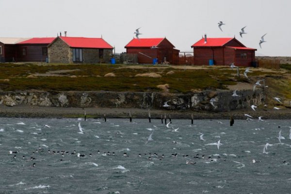
[(113, 49), (102, 38), (67, 37), (59, 36), (69, 47), (73, 48), (92, 48), (92, 49)]

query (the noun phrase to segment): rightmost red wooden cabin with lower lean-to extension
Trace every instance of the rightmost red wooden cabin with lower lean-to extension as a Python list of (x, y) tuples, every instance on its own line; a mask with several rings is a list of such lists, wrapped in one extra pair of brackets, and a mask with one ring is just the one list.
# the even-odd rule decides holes
[(252, 66), (257, 49), (247, 48), (236, 38), (201, 38), (191, 46), (194, 65)]

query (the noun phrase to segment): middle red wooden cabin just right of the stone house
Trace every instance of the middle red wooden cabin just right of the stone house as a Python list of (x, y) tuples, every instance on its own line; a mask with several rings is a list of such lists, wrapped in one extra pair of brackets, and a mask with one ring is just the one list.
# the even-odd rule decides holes
[(125, 47), (127, 54), (137, 54), (139, 64), (169, 62), (178, 65), (179, 50), (166, 38), (133, 38)]

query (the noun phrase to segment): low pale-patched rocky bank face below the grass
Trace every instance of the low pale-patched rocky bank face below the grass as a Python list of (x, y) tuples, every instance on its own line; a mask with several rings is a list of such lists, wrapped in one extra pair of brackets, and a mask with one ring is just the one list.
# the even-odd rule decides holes
[[(260, 105), (263, 94), (260, 90), (237, 92), (240, 97), (232, 97), (232, 91), (202, 91), (189, 94), (165, 94), (150, 92), (0, 92), (0, 104), (16, 106), (21, 104), (52, 107), (99, 107), (99, 108), (140, 108), (171, 110), (230, 111)], [(210, 99), (217, 100), (214, 107)], [(163, 108), (169, 101), (169, 108)]]

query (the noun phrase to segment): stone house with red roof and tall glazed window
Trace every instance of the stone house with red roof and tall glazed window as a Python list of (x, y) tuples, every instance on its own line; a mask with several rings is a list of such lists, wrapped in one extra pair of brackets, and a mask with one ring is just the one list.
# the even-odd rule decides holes
[(48, 45), (49, 63), (109, 63), (112, 51), (103, 38), (58, 36)]

